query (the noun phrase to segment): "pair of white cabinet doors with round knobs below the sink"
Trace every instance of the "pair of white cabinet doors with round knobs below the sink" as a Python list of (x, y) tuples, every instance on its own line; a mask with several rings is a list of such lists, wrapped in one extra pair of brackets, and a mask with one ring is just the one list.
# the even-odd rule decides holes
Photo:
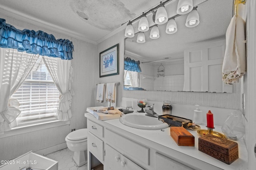
[(105, 162), (104, 170), (144, 170), (108, 144), (105, 147)]

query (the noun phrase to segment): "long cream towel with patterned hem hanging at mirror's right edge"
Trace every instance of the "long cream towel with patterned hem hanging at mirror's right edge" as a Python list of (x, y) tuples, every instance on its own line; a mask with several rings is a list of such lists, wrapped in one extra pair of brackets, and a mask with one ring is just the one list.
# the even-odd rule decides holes
[(222, 65), (222, 80), (225, 84), (239, 82), (246, 73), (245, 22), (233, 16), (226, 32), (226, 50)]

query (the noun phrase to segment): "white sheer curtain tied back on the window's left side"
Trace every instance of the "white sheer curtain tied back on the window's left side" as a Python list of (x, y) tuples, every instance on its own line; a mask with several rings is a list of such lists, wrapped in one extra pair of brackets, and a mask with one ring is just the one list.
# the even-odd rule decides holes
[(10, 98), (22, 85), (39, 55), (18, 52), (16, 49), (0, 48), (0, 134), (16, 125), (20, 114), (17, 99)]

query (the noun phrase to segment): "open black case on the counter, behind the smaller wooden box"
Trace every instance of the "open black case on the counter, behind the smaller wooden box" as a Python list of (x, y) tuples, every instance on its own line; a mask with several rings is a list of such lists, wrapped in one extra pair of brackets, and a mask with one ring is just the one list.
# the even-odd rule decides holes
[(172, 115), (158, 116), (158, 120), (168, 123), (171, 127), (184, 127), (187, 128), (189, 123), (193, 123), (192, 120), (183, 117)]

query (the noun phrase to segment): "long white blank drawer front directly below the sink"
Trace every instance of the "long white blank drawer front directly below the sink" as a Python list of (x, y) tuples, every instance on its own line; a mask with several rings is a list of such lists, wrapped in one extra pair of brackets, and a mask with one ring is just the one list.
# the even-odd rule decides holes
[(128, 158), (134, 162), (140, 161), (146, 165), (149, 165), (150, 149), (146, 146), (138, 144), (137, 142), (134, 142), (122, 135), (116, 134), (108, 129), (105, 131), (105, 138), (106, 141), (110, 142), (112, 146), (114, 146), (114, 148), (119, 148), (119, 150), (122, 150), (122, 154), (127, 155)]

